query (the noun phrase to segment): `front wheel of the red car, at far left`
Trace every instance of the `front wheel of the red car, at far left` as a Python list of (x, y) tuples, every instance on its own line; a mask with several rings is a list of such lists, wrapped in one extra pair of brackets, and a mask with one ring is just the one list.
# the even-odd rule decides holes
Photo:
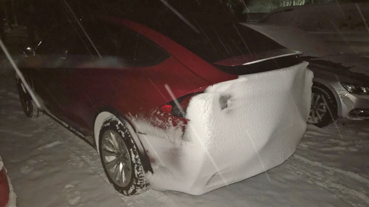
[(17, 88), (19, 99), (25, 115), (31, 118), (37, 118), (40, 116), (41, 112), (38, 110), (37, 106), (32, 100), (31, 95), (25, 89), (21, 80), (17, 80)]

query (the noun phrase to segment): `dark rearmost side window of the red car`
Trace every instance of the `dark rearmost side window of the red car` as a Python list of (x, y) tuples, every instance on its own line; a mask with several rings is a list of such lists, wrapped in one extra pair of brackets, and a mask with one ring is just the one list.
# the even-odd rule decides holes
[(100, 21), (83, 25), (100, 55), (103, 58), (114, 58), (120, 66), (153, 66), (170, 56), (154, 42), (123, 26)]

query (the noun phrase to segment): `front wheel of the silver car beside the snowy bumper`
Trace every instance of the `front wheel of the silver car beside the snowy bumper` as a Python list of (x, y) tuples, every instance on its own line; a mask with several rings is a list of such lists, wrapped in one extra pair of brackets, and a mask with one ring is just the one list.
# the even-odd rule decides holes
[(318, 110), (316, 105), (314, 108), (314, 103), (316, 102), (316, 101), (314, 102), (314, 95), (315, 97), (320, 97), (320, 100), (326, 104), (326, 112), (320, 117), (320, 119), (318, 119), (317, 122), (310, 122), (310, 124), (313, 124), (317, 127), (325, 127), (333, 123), (335, 120), (337, 120), (337, 117), (338, 117), (337, 102), (332, 92), (328, 88), (325, 88), (324, 86), (313, 84), (313, 87), (311, 88), (311, 94), (312, 94), (311, 95), (312, 100), (311, 100), (309, 120), (311, 120), (312, 118), (312, 111)]

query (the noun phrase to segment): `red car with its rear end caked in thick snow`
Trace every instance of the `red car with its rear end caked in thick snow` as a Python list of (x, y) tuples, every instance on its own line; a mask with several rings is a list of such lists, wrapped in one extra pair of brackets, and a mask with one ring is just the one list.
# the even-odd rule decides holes
[(21, 64), (42, 105), (17, 79), (26, 115), (85, 138), (125, 195), (149, 185), (199, 195), (281, 164), (306, 129), (312, 73), (300, 52), (218, 9), (65, 11)]

